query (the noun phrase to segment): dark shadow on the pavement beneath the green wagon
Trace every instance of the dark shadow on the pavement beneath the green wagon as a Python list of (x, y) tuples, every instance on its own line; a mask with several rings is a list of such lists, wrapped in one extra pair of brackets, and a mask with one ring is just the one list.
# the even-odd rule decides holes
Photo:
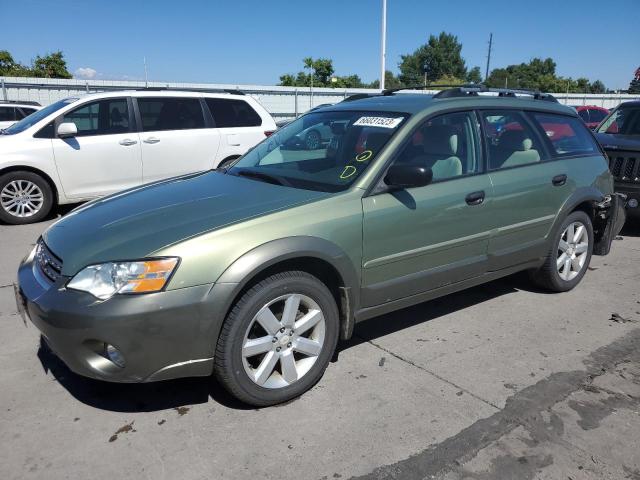
[[(518, 290), (531, 290), (531, 288), (526, 275), (516, 274), (372, 318), (356, 325), (353, 338), (339, 344), (332, 361), (337, 361), (340, 352), (363, 342), (373, 341), (413, 325), (471, 308), (502, 295)], [(154, 383), (109, 383), (73, 373), (49, 350), (44, 341), (41, 341), (37, 355), (45, 374), (51, 373), (53, 378), (78, 401), (101, 410), (154, 412), (205, 404), (209, 399), (231, 409), (254, 409), (232, 397), (213, 377), (184, 378)]]

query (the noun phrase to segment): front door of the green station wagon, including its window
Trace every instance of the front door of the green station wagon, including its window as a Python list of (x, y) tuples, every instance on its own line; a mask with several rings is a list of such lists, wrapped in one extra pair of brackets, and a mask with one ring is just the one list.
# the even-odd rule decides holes
[(427, 120), (394, 159), (433, 171), (424, 187), (363, 198), (363, 306), (482, 275), (492, 216), (472, 112)]

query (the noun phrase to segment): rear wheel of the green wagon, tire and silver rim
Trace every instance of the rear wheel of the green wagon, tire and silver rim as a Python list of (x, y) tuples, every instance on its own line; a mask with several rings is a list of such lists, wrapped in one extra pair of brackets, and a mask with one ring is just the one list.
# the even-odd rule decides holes
[(592, 251), (591, 218), (582, 211), (572, 212), (556, 231), (544, 264), (531, 273), (531, 279), (552, 292), (569, 291), (584, 277)]

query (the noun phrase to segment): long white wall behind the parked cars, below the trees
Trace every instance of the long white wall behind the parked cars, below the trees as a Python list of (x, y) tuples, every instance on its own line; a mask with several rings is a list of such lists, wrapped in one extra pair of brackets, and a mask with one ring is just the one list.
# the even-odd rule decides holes
[[(241, 90), (258, 100), (276, 118), (291, 118), (311, 106), (336, 103), (356, 93), (377, 93), (373, 89), (278, 87), (214, 83), (149, 82), (148, 87), (194, 90)], [(48, 78), (0, 77), (0, 100), (32, 100), (48, 105), (62, 98), (85, 93), (144, 88), (145, 82), (121, 80), (62, 80)], [(435, 93), (434, 90), (423, 93)], [(640, 95), (556, 93), (566, 105), (598, 105), (613, 108), (621, 102), (640, 100)]]

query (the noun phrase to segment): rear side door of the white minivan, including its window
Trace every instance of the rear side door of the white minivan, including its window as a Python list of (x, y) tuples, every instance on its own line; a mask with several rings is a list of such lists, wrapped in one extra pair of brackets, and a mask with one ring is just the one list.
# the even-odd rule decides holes
[(220, 144), (197, 97), (136, 98), (145, 183), (210, 170)]

